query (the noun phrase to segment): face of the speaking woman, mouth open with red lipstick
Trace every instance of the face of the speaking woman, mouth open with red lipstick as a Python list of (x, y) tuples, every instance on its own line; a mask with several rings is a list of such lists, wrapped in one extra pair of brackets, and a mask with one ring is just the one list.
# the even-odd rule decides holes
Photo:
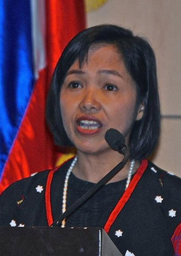
[(129, 140), (142, 118), (136, 87), (113, 45), (91, 46), (88, 59), (68, 70), (60, 93), (64, 129), (77, 150), (98, 154), (110, 150), (105, 132), (114, 128)]

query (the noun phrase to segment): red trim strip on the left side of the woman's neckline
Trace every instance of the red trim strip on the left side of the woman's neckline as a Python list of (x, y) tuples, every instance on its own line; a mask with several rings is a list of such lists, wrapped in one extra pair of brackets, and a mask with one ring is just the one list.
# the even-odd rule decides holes
[(62, 167), (62, 165), (64, 165), (74, 157), (75, 156), (69, 158), (67, 161), (62, 163), (60, 166), (55, 167), (48, 173), (48, 177), (46, 180), (46, 189), (45, 189), (45, 207), (46, 207), (46, 219), (47, 219), (48, 226), (51, 226), (53, 223), (53, 214), (52, 214), (52, 205), (51, 205), (51, 185), (52, 185), (53, 175), (60, 167)]

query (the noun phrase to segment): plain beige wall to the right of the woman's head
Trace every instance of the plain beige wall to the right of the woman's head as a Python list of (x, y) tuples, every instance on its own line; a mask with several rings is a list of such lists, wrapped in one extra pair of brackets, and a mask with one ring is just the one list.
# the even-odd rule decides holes
[(181, 0), (109, 0), (87, 14), (88, 27), (101, 23), (125, 26), (149, 38), (157, 58), (165, 116), (153, 160), (181, 177)]

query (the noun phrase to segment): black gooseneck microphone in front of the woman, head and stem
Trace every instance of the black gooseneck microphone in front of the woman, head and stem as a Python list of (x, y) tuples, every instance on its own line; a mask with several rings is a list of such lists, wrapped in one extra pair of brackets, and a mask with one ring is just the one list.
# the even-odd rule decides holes
[(119, 153), (124, 154), (122, 161), (117, 164), (108, 174), (106, 174), (98, 183), (94, 185), (93, 188), (88, 190), (82, 197), (80, 197), (75, 203), (73, 203), (67, 211), (62, 213), (59, 218), (57, 218), (50, 227), (58, 227), (61, 225), (62, 220), (68, 217), (70, 213), (75, 211), (81, 204), (83, 204), (89, 197), (91, 197), (98, 189), (100, 189), (104, 184), (106, 184), (114, 175), (116, 175), (128, 161), (129, 155), (127, 154), (127, 148), (125, 145), (125, 138), (122, 133), (116, 129), (109, 129), (105, 133), (105, 140), (108, 142), (109, 146), (113, 150), (117, 150)]

